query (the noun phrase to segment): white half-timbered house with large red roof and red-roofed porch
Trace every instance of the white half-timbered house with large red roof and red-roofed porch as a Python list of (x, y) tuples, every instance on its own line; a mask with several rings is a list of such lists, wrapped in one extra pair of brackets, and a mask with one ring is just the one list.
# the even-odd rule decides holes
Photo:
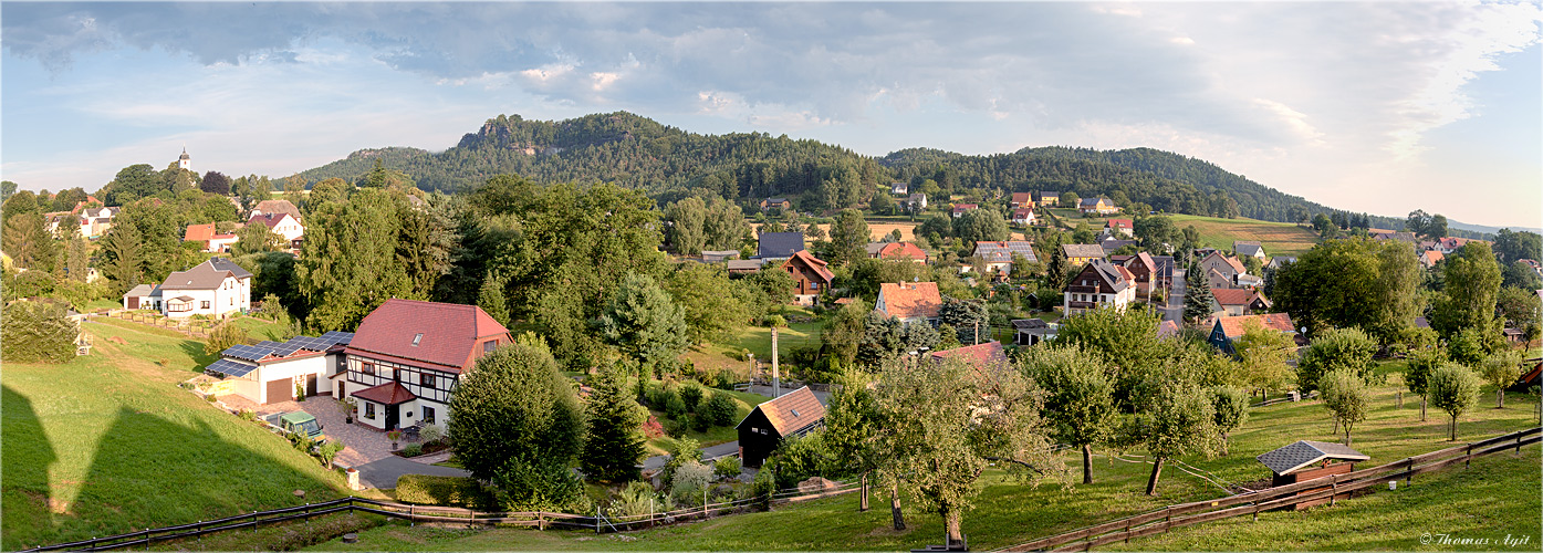
[(386, 300), (353, 332), (347, 369), (333, 377), (335, 395), (352, 397), (360, 409), (355, 420), (373, 429), (443, 429), (461, 375), (508, 343), (509, 331), (481, 307)]

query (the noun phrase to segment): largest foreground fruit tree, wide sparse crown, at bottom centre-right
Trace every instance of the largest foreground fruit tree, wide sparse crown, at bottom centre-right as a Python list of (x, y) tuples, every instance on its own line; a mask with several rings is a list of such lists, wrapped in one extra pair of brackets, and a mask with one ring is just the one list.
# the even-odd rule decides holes
[(1011, 471), (1055, 471), (1034, 382), (1009, 366), (890, 361), (875, 388), (886, 456), (903, 488), (943, 517), (950, 547), (964, 542), (963, 516), (980, 474), (997, 462)]

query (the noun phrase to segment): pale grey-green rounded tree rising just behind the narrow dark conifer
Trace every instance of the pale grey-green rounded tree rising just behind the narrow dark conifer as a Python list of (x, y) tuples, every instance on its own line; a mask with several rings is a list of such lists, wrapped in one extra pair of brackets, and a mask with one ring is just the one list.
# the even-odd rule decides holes
[(606, 303), (600, 335), (647, 368), (676, 358), (687, 348), (685, 312), (648, 275), (626, 275)]

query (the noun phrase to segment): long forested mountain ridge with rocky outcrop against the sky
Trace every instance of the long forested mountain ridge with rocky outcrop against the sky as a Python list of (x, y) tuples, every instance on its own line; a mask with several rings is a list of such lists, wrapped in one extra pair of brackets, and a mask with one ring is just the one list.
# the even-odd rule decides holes
[[(376, 161), (407, 173), (424, 190), (446, 192), (472, 188), (494, 175), (517, 173), (535, 181), (616, 182), (663, 196), (708, 188), (730, 199), (802, 196), (805, 204), (835, 205), (846, 198), (841, 196), (842, 182), (852, 179), (863, 185), (935, 179), (944, 188), (1071, 190), (1080, 196), (1139, 201), (1171, 213), (1264, 221), (1295, 222), (1293, 216), (1302, 213), (1336, 212), (1204, 159), (1153, 148), (1042, 147), (989, 156), (907, 148), (872, 158), (785, 134), (696, 134), (626, 111), (566, 120), (497, 116), (440, 153), (367, 148), (299, 175), (312, 182), (355, 179)], [(1372, 227), (1383, 229), (1403, 229), (1404, 224), (1403, 218), (1392, 216), (1369, 219)], [(1464, 230), (1467, 227), (1450, 222), (1454, 235), (1480, 238)]]

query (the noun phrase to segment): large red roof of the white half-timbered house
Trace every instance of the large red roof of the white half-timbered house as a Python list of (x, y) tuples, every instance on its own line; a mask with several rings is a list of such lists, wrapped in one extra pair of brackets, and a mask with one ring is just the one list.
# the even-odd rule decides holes
[(509, 329), (477, 306), (393, 298), (360, 321), (347, 351), (350, 355), (384, 354), (427, 361), (460, 372), (472, 366), (488, 338), (512, 341)]

